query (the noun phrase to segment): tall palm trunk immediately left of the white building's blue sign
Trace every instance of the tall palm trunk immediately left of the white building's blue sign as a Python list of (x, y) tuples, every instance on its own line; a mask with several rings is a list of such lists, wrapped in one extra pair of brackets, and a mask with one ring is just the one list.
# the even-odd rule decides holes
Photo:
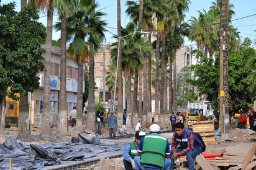
[(50, 57), (52, 55), (52, 20), (53, 20), (53, 0), (49, 1), (47, 11), (47, 38), (45, 44), (45, 71), (43, 81), (43, 118), (42, 118), (42, 135), (50, 136)]

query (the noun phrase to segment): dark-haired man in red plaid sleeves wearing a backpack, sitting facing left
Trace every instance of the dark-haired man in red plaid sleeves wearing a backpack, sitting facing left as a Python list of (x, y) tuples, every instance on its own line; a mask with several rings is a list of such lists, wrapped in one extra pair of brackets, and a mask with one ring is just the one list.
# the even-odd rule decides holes
[(188, 161), (188, 168), (194, 170), (196, 164), (196, 156), (202, 152), (203, 143), (199, 140), (198, 136), (184, 124), (178, 122), (175, 124), (175, 133), (171, 140), (171, 168), (174, 169), (174, 160), (180, 156), (186, 155)]

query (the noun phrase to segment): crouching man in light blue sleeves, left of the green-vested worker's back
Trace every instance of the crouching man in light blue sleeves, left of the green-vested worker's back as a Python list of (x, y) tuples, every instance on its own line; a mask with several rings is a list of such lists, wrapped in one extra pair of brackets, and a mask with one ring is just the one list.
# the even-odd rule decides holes
[(126, 168), (126, 170), (132, 170), (132, 164), (134, 165), (134, 157), (137, 156), (137, 149), (140, 144), (140, 140), (145, 135), (145, 132), (136, 131), (135, 140), (131, 141), (130, 143), (127, 143), (124, 147), (122, 157), (124, 158), (124, 168)]

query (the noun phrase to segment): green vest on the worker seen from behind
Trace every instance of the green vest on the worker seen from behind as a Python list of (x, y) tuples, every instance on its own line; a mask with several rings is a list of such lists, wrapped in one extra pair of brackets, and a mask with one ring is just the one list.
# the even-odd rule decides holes
[(140, 163), (163, 167), (165, 165), (165, 150), (167, 139), (158, 133), (145, 136)]

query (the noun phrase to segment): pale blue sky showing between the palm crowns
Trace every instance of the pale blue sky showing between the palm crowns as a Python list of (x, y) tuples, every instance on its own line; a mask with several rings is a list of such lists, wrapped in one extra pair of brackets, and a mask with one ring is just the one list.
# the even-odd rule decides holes
[[(7, 4), (9, 2), (17, 3), (17, 11), (20, 9), (20, 0), (0, 0), (1, 4)], [(216, 0), (190, 0), (189, 11), (185, 13), (185, 22), (188, 22), (191, 19), (191, 16), (198, 17), (199, 12), (203, 10), (209, 11), (209, 7), (212, 2)], [(96, 0), (99, 7), (97, 10), (101, 10), (106, 13), (106, 17), (103, 17), (103, 20), (106, 20), (108, 25), (106, 26), (106, 42), (115, 42), (116, 39), (112, 38), (113, 34), (117, 34), (117, 1), (116, 0)], [(126, 15), (126, 1), (121, 0), (121, 25), (126, 27), (129, 22), (129, 17)], [(229, 4), (232, 4), (234, 8), (232, 9), (235, 14), (232, 17), (232, 25), (237, 27), (240, 32), (240, 37), (245, 38), (249, 37), (252, 42), (256, 41), (256, 1), (255, 0), (229, 0)], [(46, 14), (40, 14), (40, 22), (46, 25), (47, 17)], [(55, 19), (57, 17), (55, 16)], [(53, 23), (54, 24), (54, 23)], [(60, 38), (60, 32), (53, 31), (53, 39), (58, 40)], [(190, 42), (185, 39), (185, 45), (192, 45), (195, 47), (194, 42)]]

